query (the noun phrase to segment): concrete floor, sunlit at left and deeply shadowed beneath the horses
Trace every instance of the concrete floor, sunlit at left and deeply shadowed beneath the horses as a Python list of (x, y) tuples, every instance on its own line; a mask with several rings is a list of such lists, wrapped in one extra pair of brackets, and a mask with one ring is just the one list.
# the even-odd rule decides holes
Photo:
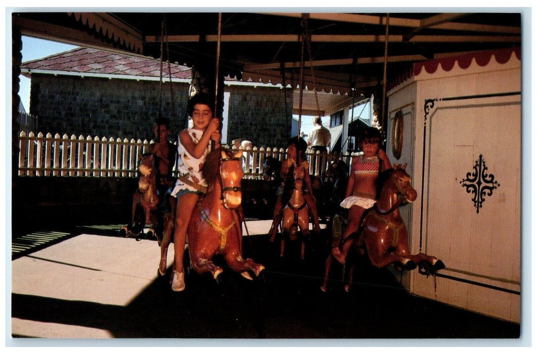
[[(479, 338), (520, 336), (519, 324), (412, 296), (389, 270), (367, 260), (360, 262), (350, 293), (343, 291), (341, 266), (333, 267), (323, 293), (324, 242), (311, 242), (306, 261), (294, 245), (280, 258), (278, 245), (266, 236), (270, 222), (249, 221), (250, 236), (243, 241), (244, 255), (266, 266), (260, 278), (248, 281), (225, 269), (215, 281), (192, 271), (180, 293), (170, 290), (170, 268), (165, 278), (157, 277), (155, 240), (125, 239), (115, 230), (79, 229), (14, 252), (11, 341), (162, 338), (158, 345), (195, 345), (192, 340), (256, 339), (248, 343), (273, 345), (279, 341), (263, 339), (310, 339), (333, 346), (453, 339), (473, 345)], [(169, 266), (172, 254), (171, 247)], [(216, 262), (225, 266), (218, 257)]]

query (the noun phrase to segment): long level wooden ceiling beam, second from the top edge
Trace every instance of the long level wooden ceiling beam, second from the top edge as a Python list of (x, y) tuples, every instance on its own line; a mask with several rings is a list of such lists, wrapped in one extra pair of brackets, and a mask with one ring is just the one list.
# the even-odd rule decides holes
[[(313, 34), (310, 36), (311, 42), (339, 42), (339, 43), (384, 43), (386, 35), (354, 35), (354, 34)], [(408, 41), (404, 35), (390, 34), (390, 43)], [(161, 36), (148, 35), (144, 39), (147, 43), (161, 42)], [(199, 35), (168, 35), (164, 36), (164, 41), (174, 42), (199, 42)], [(217, 35), (207, 35), (207, 42), (217, 42)], [(222, 42), (296, 42), (300, 43), (301, 36), (296, 34), (222, 34)], [(520, 36), (498, 36), (498, 35), (416, 35), (412, 42), (519, 42)]]

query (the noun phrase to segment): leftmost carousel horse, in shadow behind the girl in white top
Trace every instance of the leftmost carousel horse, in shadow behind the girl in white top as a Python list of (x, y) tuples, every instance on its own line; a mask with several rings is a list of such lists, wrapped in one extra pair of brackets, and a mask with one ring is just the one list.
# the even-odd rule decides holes
[(151, 153), (140, 155), (140, 179), (138, 189), (134, 192), (132, 206), (132, 222), (120, 230), (125, 237), (137, 236), (146, 225), (151, 225), (147, 236), (155, 235), (154, 227), (158, 223), (156, 209), (160, 201), (157, 192), (157, 171), (155, 156)]

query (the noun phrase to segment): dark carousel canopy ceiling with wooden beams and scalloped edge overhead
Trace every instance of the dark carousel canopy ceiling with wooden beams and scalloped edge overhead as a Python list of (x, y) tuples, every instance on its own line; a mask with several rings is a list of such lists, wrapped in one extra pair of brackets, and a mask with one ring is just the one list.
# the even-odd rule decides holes
[[(169, 53), (172, 63), (188, 67), (219, 57), (220, 74), (236, 80), (293, 88), (303, 82), (304, 89), (347, 97), (378, 94), (384, 77), (389, 83), (415, 63), (521, 46), (520, 12), (221, 15), (13, 12), (12, 26), (23, 35), (154, 59), (165, 48), (164, 60)], [(316, 111), (315, 95), (304, 96), (303, 105)]]

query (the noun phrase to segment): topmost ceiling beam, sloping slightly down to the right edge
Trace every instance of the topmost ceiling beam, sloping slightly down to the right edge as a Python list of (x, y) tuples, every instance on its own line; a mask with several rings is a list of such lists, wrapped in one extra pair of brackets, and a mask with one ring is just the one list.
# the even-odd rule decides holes
[[(270, 13), (270, 12), (260, 12), (260, 13), (262, 15), (302, 18), (301, 13)], [(386, 16), (358, 15), (358, 14), (353, 14), (353, 13), (309, 13), (308, 15), (310, 19), (317, 19), (317, 20), (350, 22), (350, 23), (369, 24), (369, 25), (383, 25), (383, 26), (386, 25)], [(471, 15), (471, 13), (467, 13), (466, 15)], [(418, 19), (390, 17), (390, 26), (418, 28), (422, 25), (421, 21), (422, 20), (418, 20)], [(429, 25), (429, 28), (435, 28), (438, 30), (453, 30), (453, 31), (520, 34), (520, 27), (500, 26), (500, 25), (482, 25), (482, 24), (461, 23), (461, 22), (448, 22), (448, 23), (440, 23), (437, 25)]]

